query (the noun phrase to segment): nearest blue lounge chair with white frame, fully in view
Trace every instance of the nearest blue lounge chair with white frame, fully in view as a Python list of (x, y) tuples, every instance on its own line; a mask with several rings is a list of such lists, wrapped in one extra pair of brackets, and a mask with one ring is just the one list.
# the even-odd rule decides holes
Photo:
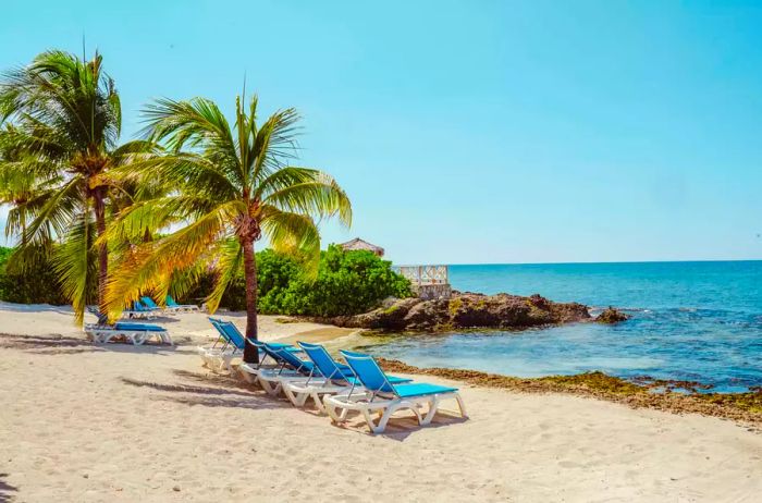
[[(347, 365), (362, 383), (365, 392), (337, 394), (325, 396), (323, 405), (334, 422), (346, 420), (347, 412), (362, 413), (365, 420), (373, 433), (381, 433), (392, 415), (401, 409), (410, 409), (419, 425), (428, 425), (437, 415), (439, 403), (442, 400), (455, 398), (460, 410), (460, 416), (466, 417), (466, 406), (457, 388), (441, 387), (429, 383), (395, 384), (389, 376), (381, 370), (379, 364), (370, 355), (341, 351)], [(420, 408), (428, 405), (426, 416), (421, 416)], [(339, 413), (337, 410), (342, 412)], [(371, 414), (380, 414), (378, 422), (373, 421)]]

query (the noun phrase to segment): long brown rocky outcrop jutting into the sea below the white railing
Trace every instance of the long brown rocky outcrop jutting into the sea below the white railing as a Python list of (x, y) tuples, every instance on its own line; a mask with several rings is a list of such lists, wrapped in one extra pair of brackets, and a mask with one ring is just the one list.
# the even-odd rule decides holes
[(389, 299), (370, 312), (336, 317), (340, 327), (385, 331), (440, 331), (467, 328), (521, 329), (590, 320), (588, 307), (554, 303), (540, 295), (456, 293), (450, 299)]

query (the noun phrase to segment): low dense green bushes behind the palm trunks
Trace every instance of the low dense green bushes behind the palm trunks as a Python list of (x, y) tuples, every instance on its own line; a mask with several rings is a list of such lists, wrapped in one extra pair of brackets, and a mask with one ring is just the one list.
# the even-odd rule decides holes
[[(13, 248), (0, 247), (0, 300), (69, 304), (49, 263), (36, 263), (22, 274), (13, 270)], [(369, 252), (344, 252), (331, 245), (320, 253), (317, 278), (292, 255), (268, 248), (257, 252), (256, 256), (258, 310), (266, 315), (357, 315), (378, 307), (386, 297), (411, 295), (409, 282), (394, 273), (389, 261)], [(214, 289), (216, 275), (214, 269), (208, 269), (189, 290), (179, 292), (171, 285), (170, 293), (183, 304), (197, 303)], [(89, 289), (95, 293), (97, 285), (93, 283)], [(228, 285), (220, 307), (246, 308), (243, 269)]]

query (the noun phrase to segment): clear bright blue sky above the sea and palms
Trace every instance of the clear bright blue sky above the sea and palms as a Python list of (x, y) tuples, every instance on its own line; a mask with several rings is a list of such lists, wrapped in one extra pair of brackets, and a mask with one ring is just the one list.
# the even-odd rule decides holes
[(762, 258), (762, 2), (17, 1), (0, 68), (98, 48), (125, 138), (244, 73), (396, 262)]

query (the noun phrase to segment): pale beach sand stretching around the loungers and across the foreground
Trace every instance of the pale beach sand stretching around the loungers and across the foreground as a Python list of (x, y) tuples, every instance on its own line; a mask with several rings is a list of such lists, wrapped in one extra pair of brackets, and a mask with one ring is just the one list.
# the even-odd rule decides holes
[[(174, 318), (162, 323), (177, 340), (213, 333), (202, 315)], [(192, 345), (97, 347), (71, 322), (66, 309), (0, 305), (0, 332), (24, 335), (0, 336), (0, 502), (762, 493), (762, 435), (730, 421), (460, 384), (468, 420), (418, 428), (403, 418), (373, 437), (209, 375)], [(261, 320), (265, 339), (319, 328)]]

